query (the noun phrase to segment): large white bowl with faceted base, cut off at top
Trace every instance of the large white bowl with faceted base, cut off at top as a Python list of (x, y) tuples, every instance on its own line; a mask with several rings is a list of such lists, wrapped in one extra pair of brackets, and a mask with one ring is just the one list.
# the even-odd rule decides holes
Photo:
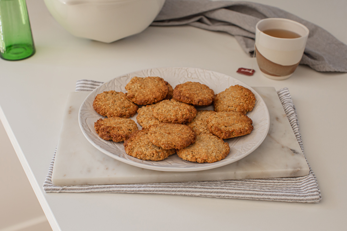
[(44, 0), (71, 34), (111, 43), (146, 29), (165, 0)]

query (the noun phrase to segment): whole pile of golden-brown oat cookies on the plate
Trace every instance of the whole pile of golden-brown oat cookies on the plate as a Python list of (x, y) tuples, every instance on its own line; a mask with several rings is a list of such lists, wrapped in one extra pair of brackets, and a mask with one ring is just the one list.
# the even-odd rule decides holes
[[(177, 153), (183, 160), (212, 163), (229, 154), (223, 139), (253, 130), (246, 113), (255, 96), (239, 85), (215, 95), (198, 82), (173, 89), (160, 77), (134, 77), (125, 89), (126, 94), (105, 91), (95, 97), (95, 111), (108, 118), (100, 118), (94, 127), (104, 140), (125, 141), (126, 153), (138, 159), (158, 161)], [(195, 108), (212, 104), (213, 111)], [(136, 112), (142, 130), (129, 118)]]

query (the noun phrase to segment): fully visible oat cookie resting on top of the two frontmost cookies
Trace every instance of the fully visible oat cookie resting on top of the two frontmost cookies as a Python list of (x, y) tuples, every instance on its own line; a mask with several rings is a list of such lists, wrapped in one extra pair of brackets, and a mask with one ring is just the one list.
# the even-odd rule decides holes
[(187, 125), (160, 123), (149, 128), (149, 139), (163, 149), (182, 149), (194, 143), (196, 135)]

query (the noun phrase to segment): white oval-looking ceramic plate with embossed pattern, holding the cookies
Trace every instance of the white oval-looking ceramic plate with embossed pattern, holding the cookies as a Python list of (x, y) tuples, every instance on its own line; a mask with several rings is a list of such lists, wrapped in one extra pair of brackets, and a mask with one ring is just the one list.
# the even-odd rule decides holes
[[(116, 143), (113, 141), (103, 140), (95, 132), (94, 122), (96, 122), (99, 118), (104, 117), (95, 112), (95, 110), (93, 109), (93, 101), (95, 99), (95, 96), (102, 93), (103, 91), (115, 90), (126, 92), (126, 84), (135, 76), (159, 76), (168, 81), (173, 88), (175, 88), (176, 85), (184, 83), (186, 81), (200, 82), (213, 89), (215, 94), (225, 90), (230, 86), (237, 84), (242, 85), (250, 89), (254, 93), (256, 98), (255, 107), (251, 112), (247, 113), (247, 116), (250, 117), (253, 121), (254, 129), (248, 135), (225, 140), (225, 142), (229, 143), (230, 153), (225, 159), (214, 163), (190, 162), (182, 160), (176, 154), (173, 154), (161, 161), (139, 160), (135, 157), (129, 156), (124, 151), (123, 142)], [(200, 107), (197, 109), (213, 110), (213, 107)], [(133, 119), (135, 122), (136, 116), (137, 114), (131, 117), (131, 119)], [(228, 75), (198, 68), (147, 69), (121, 75), (115, 79), (112, 79), (111, 81), (105, 82), (98, 88), (94, 89), (86, 97), (81, 105), (81, 108), (79, 109), (78, 121), (79, 126), (81, 127), (81, 130), (87, 140), (101, 152), (119, 161), (128, 163), (129, 165), (159, 171), (200, 171), (217, 168), (235, 162), (253, 152), (263, 142), (266, 134), (268, 134), (270, 127), (270, 116), (268, 108), (266, 107), (264, 100), (254, 89)], [(141, 129), (142, 127), (138, 125), (138, 128)]]

